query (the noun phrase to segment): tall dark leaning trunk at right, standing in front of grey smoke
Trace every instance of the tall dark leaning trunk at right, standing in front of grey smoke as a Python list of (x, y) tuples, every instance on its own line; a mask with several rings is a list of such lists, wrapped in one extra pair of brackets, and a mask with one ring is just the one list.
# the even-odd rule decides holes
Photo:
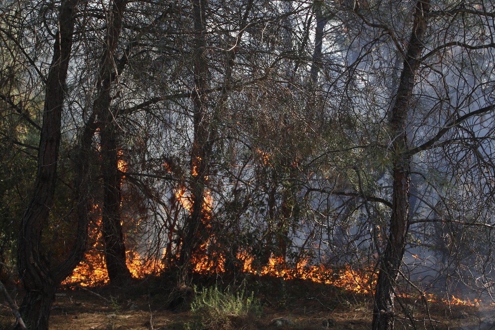
[(406, 156), (406, 119), (420, 65), (419, 57), (424, 47), (429, 7), (429, 0), (419, 0), (416, 4), (411, 39), (400, 75), (396, 102), (390, 116), (394, 155), (392, 215), (389, 240), (379, 264), (373, 310), (374, 330), (394, 329), (394, 292), (409, 228), (410, 158)]

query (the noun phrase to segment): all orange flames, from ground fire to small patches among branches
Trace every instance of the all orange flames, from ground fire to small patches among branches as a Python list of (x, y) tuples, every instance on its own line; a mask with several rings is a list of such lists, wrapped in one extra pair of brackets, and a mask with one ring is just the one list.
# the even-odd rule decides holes
[[(270, 155), (257, 149), (261, 155), (261, 160), (264, 165), (270, 164)], [(119, 151), (119, 156), (122, 156), (122, 151)], [(201, 159), (198, 158), (195, 164)], [(170, 167), (167, 163), (163, 164), (167, 170)], [(127, 171), (127, 163), (123, 160), (119, 160), (117, 164), (119, 170), (122, 172)], [(198, 175), (196, 165), (193, 166), (192, 174)], [(175, 191), (175, 198), (180, 205), (192, 212), (193, 202), (191, 194), (184, 187), (178, 187)], [(211, 192), (206, 190), (203, 197), (202, 205), (202, 222), (205, 224), (206, 229), (211, 228), (211, 217), (213, 211), (214, 200), (211, 196)], [(93, 212), (99, 213), (101, 210), (99, 205), (93, 207)], [(91, 246), (85, 255), (83, 262), (81, 262), (74, 273), (69, 276), (63, 284), (79, 283), (81, 286), (95, 286), (102, 285), (109, 282), (108, 273), (104, 262), (104, 245), (102, 243), (101, 217), (98, 218), (94, 227), (90, 230), (90, 243)], [(208, 239), (203, 242), (195, 254), (191, 257), (191, 262), (194, 265), (193, 271), (202, 275), (221, 274), (225, 273), (226, 256), (222, 254), (219, 244), (213, 234), (210, 233)], [(166, 265), (165, 249), (164, 255), (161, 258), (143, 258), (138, 252), (129, 250), (126, 252), (126, 264), (134, 278), (143, 278), (148, 275), (158, 274), (162, 272)], [(412, 257), (419, 259), (417, 255)], [(371, 268), (354, 270), (349, 265), (343, 269), (333, 270), (325, 268), (323, 265), (310, 265), (308, 259), (300, 259), (297, 261), (295, 267), (290, 267), (284, 258), (279, 256), (271, 256), (268, 264), (262, 267), (254, 267), (254, 256), (247, 250), (242, 250), (237, 253), (237, 259), (240, 262), (240, 269), (244, 273), (250, 273), (253, 275), (261, 276), (273, 276), (280, 277), (286, 280), (289, 279), (304, 279), (315, 283), (330, 284), (336, 287), (346, 289), (349, 292), (358, 294), (373, 294), (374, 287), (376, 285), (377, 274), (372, 271)], [(424, 299), (427, 302), (438, 303), (443, 302), (449, 305), (462, 305), (462, 306), (479, 306), (481, 300), (474, 299), (472, 302), (470, 299), (462, 300), (454, 295), (451, 298), (439, 299), (434, 294), (422, 293)], [(403, 298), (411, 298), (412, 294), (400, 294)]]

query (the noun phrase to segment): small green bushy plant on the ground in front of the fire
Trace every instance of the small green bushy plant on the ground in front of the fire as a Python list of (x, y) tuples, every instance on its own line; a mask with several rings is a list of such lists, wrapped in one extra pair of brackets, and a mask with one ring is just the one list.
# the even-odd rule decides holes
[(199, 292), (191, 304), (193, 320), (186, 329), (239, 329), (261, 316), (262, 307), (254, 293), (221, 291), (217, 286)]

